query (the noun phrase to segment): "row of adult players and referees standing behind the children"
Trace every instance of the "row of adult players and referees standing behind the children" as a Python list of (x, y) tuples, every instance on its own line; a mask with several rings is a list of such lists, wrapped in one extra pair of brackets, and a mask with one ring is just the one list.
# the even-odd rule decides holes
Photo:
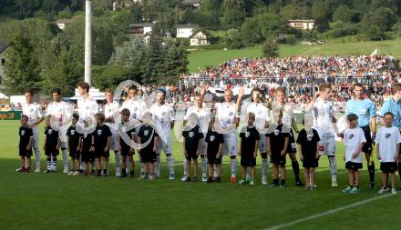
[[(77, 120), (77, 122), (83, 122), (82, 117), (87, 117), (87, 116), (95, 116), (98, 114), (98, 104), (97, 102), (90, 98), (88, 95), (88, 85), (86, 83), (81, 83), (78, 85), (78, 91), (80, 95), (82, 95), (82, 100), (79, 100), (77, 103), (77, 113), (81, 119)], [(336, 160), (335, 160), (335, 118), (334, 118), (334, 106), (331, 101), (329, 101), (329, 96), (330, 96), (330, 91), (331, 91), (331, 86), (330, 85), (321, 85), (319, 89), (319, 93), (317, 93), (314, 97), (314, 100), (311, 102), (310, 105), (308, 105), (308, 110), (313, 111), (314, 113), (314, 128), (317, 130), (317, 133), (320, 136), (320, 142), (319, 142), (319, 155), (327, 155), (329, 162), (330, 162), (330, 171), (332, 175), (332, 185), (337, 186), (336, 183), (336, 174), (337, 174), (337, 169), (336, 169)], [(282, 111), (285, 110), (285, 89), (284, 88), (278, 88), (276, 90), (277, 95), (276, 95), (276, 100), (279, 105), (282, 105)], [(146, 106), (143, 103), (140, 103), (140, 101), (135, 100), (135, 96), (138, 95), (138, 90), (135, 87), (129, 88), (129, 99), (128, 101), (124, 102), (121, 107), (118, 106), (117, 102), (113, 101), (113, 93), (111, 90), (106, 90), (106, 99), (107, 99), (107, 105), (105, 106), (105, 124), (109, 127), (110, 129), (110, 141), (107, 145), (107, 148), (111, 148), (115, 152), (115, 157), (116, 157), (116, 174), (118, 176), (121, 176), (121, 166), (120, 166), (120, 155), (121, 155), (121, 145), (118, 145), (118, 138), (117, 135), (117, 121), (118, 121), (118, 116), (122, 112), (122, 110), (127, 109), (129, 110), (129, 120), (136, 120), (140, 124), (143, 122), (142, 116), (144, 115), (145, 110), (147, 109)], [(237, 169), (237, 159), (236, 156), (241, 154), (242, 149), (240, 148), (240, 151), (237, 149), (237, 126), (239, 125), (240, 121), (240, 112), (241, 112), (241, 104), (242, 104), (242, 96), (243, 96), (243, 90), (240, 90), (240, 93), (238, 95), (237, 102), (234, 103), (232, 101), (233, 95), (231, 90), (226, 90), (224, 94), (224, 103), (221, 104), (216, 104), (214, 107), (211, 108), (211, 110), (206, 109), (203, 107), (203, 95), (204, 91), (201, 92), (200, 95), (197, 95), (195, 98), (195, 105), (190, 107), (190, 109), (187, 111), (186, 114), (186, 120), (188, 120), (190, 114), (196, 114), (197, 115), (197, 125), (200, 125), (202, 127), (209, 126), (209, 122), (202, 122), (204, 121), (203, 119), (206, 117), (209, 117), (211, 113), (215, 114), (215, 119), (218, 119), (219, 122), (224, 126), (224, 128), (228, 128), (227, 130), (230, 130), (229, 132), (225, 132), (224, 135), (222, 135), (222, 145), (221, 145), (221, 155), (229, 155), (231, 158), (231, 178), (230, 181), (231, 183), (236, 183), (236, 169)], [(53, 97), (55, 101), (50, 104), (47, 108), (46, 115), (52, 115), (59, 117), (60, 123), (64, 124), (67, 123), (67, 117), (68, 117), (68, 109), (67, 109), (67, 104), (62, 102), (60, 100), (60, 92), (58, 90), (55, 90), (53, 92)], [(383, 106), (382, 109), (382, 116), (386, 114), (386, 112), (391, 112), (394, 115), (394, 125), (397, 128), (400, 128), (400, 114), (401, 114), (401, 106), (399, 104), (399, 99), (401, 98), (401, 87), (400, 85), (394, 85), (393, 87), (393, 97), (389, 99), (386, 104)], [(159, 177), (159, 155), (160, 151), (163, 150), (164, 153), (167, 156), (168, 164), (169, 164), (169, 169), (170, 169), (170, 179), (175, 179), (174, 175), (174, 158), (172, 156), (172, 151), (171, 151), (171, 137), (170, 137), (170, 131), (174, 126), (175, 122), (175, 115), (174, 115), (174, 110), (170, 105), (166, 105), (164, 103), (165, 97), (162, 93), (157, 94), (157, 103), (155, 105), (152, 105), (149, 109), (149, 113), (153, 115), (154, 120), (162, 127), (162, 136), (164, 138), (157, 137), (155, 138), (155, 152), (156, 153), (156, 160), (154, 164), (154, 173), (155, 176)], [(36, 156), (36, 172), (40, 172), (40, 153), (39, 153), (39, 148), (37, 146), (37, 125), (43, 121), (43, 115), (41, 115), (40, 112), (40, 106), (37, 105), (36, 103), (33, 102), (33, 92), (32, 91), (27, 91), (26, 92), (26, 105), (23, 106), (23, 114), (27, 115), (27, 125), (32, 128), (33, 131), (33, 149), (35, 152)], [(125, 111), (127, 111), (125, 110)], [(269, 126), (269, 120), (267, 119), (268, 114), (269, 114), (269, 108), (264, 106), (262, 103), (262, 98), (260, 96), (260, 92), (258, 89), (252, 90), (252, 103), (251, 105), (248, 105), (246, 108), (247, 114), (252, 113), (254, 115), (255, 119), (255, 124), (263, 124), (264, 126), (268, 127)], [(359, 117), (359, 126), (363, 128), (364, 133), (365, 133), (365, 139), (366, 143), (363, 147), (363, 151), (365, 152), (366, 155), (366, 160), (368, 163), (368, 171), (370, 175), (370, 185), (371, 187), (374, 187), (374, 176), (375, 176), (375, 165), (372, 161), (372, 144), (375, 141), (375, 130), (376, 130), (376, 125), (375, 125), (375, 105), (369, 100), (365, 99), (364, 94), (363, 94), (363, 85), (355, 85), (355, 99), (350, 100), (347, 103), (346, 106), (346, 113), (347, 115), (350, 114), (355, 114)], [(127, 114), (127, 113), (126, 113)], [(70, 115), (72, 116), (72, 115)], [(293, 124), (293, 130), (289, 133), (289, 140), (288, 143), (284, 142), (284, 148), (280, 151), (283, 153), (280, 153), (281, 155), (286, 155), (287, 153), (290, 155), (290, 158), (292, 160), (292, 165), (293, 165), (293, 172), (295, 175), (295, 180), (296, 180), (296, 185), (303, 185), (299, 178), (299, 164), (296, 160), (296, 147), (295, 147), (295, 141), (293, 138), (293, 131), (298, 132), (296, 124), (292, 122)], [(263, 126), (262, 125), (262, 126)], [(139, 134), (139, 128), (140, 125), (136, 128), (136, 134)], [(208, 157), (207, 157), (207, 149), (208, 149), (208, 135), (207, 135), (207, 130), (208, 129), (203, 129), (204, 136), (206, 138), (202, 138), (202, 141), (200, 141), (199, 144), (199, 150), (197, 149), (196, 153), (200, 155), (201, 158), (201, 165), (202, 165), (202, 181), (208, 181), (208, 179), (211, 179), (210, 177), (208, 178), (207, 175), (207, 162), (208, 162)], [(372, 130), (372, 135), (371, 135), (371, 130)], [(62, 133), (62, 132), (61, 132)], [(153, 132), (155, 133), (155, 132)], [(246, 133), (246, 132), (245, 132)], [(277, 177), (278, 171), (277, 171), (277, 165), (284, 165), (285, 162), (285, 157), (279, 157), (281, 161), (278, 162), (278, 164), (274, 164), (274, 157), (272, 156), (272, 151), (273, 146), (277, 145), (269, 145), (268, 140), (272, 141), (272, 138), (264, 138), (264, 135), (266, 133), (258, 131), (260, 137), (263, 136), (263, 138), (260, 138), (258, 141), (259, 145), (259, 152), (261, 153), (262, 156), (262, 185), (267, 185), (267, 171), (268, 171), (268, 155), (271, 155), (271, 159), (274, 165), (274, 170), (273, 170), (273, 184), (276, 184), (277, 182)], [(70, 134), (69, 134), (70, 135)], [(66, 135), (66, 136), (69, 136)], [(95, 132), (96, 135), (96, 132)], [(62, 136), (62, 134), (60, 135)], [(185, 135), (184, 135), (185, 136)], [(274, 136), (273, 136), (274, 137)], [(210, 138), (209, 138), (210, 139)], [(275, 144), (275, 142), (274, 142)], [(185, 144), (184, 144), (185, 145)], [(64, 173), (68, 173), (68, 165), (67, 165), (67, 137), (63, 138), (61, 137), (59, 140), (59, 143), (57, 143), (57, 146), (61, 147), (62, 154), (63, 154), (63, 161), (64, 161)], [(218, 148), (220, 149), (220, 148)], [(71, 152), (71, 148), (69, 148), (69, 152)], [(285, 150), (285, 151), (283, 151)], [(279, 151), (279, 150), (277, 150)], [(74, 151), (72, 151), (74, 152)], [(105, 151), (108, 152), (108, 151)], [(255, 151), (256, 153), (257, 151)], [(126, 165), (129, 165), (129, 168), (133, 172), (133, 159), (132, 159), (132, 154), (134, 151), (132, 149), (129, 150), (129, 154), (123, 155), (124, 160), (128, 159), (129, 163), (124, 163), (126, 164), (121, 164), (123, 165), (123, 168), (126, 168)], [(185, 151), (184, 155), (186, 156), (185, 158), (188, 160), (194, 160), (194, 158), (197, 158), (197, 156), (189, 157), (189, 153)], [(128, 157), (127, 157), (128, 156)], [(106, 157), (108, 158), (108, 157)], [(49, 162), (50, 161), (50, 162)], [(47, 158), (47, 165), (50, 165), (50, 170), (55, 168), (57, 164), (56, 158), (55, 160), (52, 159), (52, 157)], [(187, 161), (184, 161), (184, 176), (182, 180), (188, 181), (190, 178), (189, 174), (189, 163)], [(19, 170), (26, 170), (30, 168), (30, 164), (24, 165), (21, 169)], [(81, 169), (83, 168), (82, 166), (80, 167)], [(98, 168), (98, 167), (97, 167)], [(47, 168), (49, 169), (49, 168)], [(211, 168), (210, 168), (211, 169)], [(143, 172), (144, 167), (141, 166), (141, 171)], [(124, 175), (126, 174), (126, 171), (124, 171)], [(217, 171), (217, 170), (215, 170)], [(398, 165), (398, 171), (400, 171), (400, 167)], [(106, 166), (106, 171), (104, 172), (105, 175), (108, 173), (108, 168)], [(213, 174), (215, 177), (218, 177), (216, 175), (218, 172), (214, 172)], [(74, 172), (74, 174), (76, 174)], [(209, 174), (211, 175), (211, 173)], [(248, 175), (248, 173), (246, 173)], [(254, 175), (254, 173), (252, 173)], [(282, 172), (282, 176), (285, 176), (284, 172)], [(283, 178), (283, 177), (282, 177)], [(284, 177), (285, 178), (285, 177)]]

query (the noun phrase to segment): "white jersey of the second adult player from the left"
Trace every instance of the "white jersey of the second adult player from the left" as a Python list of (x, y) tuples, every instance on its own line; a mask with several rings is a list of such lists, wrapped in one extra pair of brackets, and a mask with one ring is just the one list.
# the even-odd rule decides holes
[(72, 108), (66, 102), (52, 102), (47, 105), (46, 116), (51, 115), (57, 118), (58, 123), (62, 123), (63, 126), (60, 127), (60, 139), (61, 142), (67, 142), (67, 122), (72, 116)]

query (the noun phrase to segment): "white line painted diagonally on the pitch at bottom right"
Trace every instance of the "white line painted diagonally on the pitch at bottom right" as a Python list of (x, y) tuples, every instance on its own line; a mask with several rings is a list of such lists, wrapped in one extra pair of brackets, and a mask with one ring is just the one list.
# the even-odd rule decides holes
[(345, 205), (345, 206), (342, 206), (342, 207), (337, 207), (337, 208), (334, 208), (332, 210), (326, 211), (326, 212), (321, 213), (321, 214), (311, 215), (311, 216), (308, 216), (308, 217), (305, 217), (305, 218), (302, 218), (302, 219), (294, 220), (292, 222), (289, 222), (289, 223), (286, 223), (286, 224), (283, 224), (283, 225), (275, 225), (275, 226), (266, 228), (266, 230), (283, 229), (285, 227), (296, 225), (298, 223), (306, 222), (306, 221), (309, 221), (309, 220), (313, 220), (313, 219), (322, 217), (324, 215), (332, 215), (334, 213), (338, 213), (338, 212), (343, 211), (343, 210), (348, 209), (348, 208), (352, 208), (352, 207), (359, 206), (359, 205), (365, 205), (367, 203), (371, 203), (371, 202), (386, 198), (386, 197), (391, 196), (391, 195), (392, 194), (376, 196), (376, 197), (373, 197), (373, 198), (370, 198), (370, 199), (367, 199), (367, 200), (355, 202), (354, 204), (351, 204), (351, 205)]

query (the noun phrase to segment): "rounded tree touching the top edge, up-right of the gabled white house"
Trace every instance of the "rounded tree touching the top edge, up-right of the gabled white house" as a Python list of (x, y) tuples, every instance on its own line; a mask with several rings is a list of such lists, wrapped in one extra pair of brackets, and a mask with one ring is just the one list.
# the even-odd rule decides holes
[(223, 22), (226, 28), (237, 28), (245, 19), (244, 0), (224, 0)]

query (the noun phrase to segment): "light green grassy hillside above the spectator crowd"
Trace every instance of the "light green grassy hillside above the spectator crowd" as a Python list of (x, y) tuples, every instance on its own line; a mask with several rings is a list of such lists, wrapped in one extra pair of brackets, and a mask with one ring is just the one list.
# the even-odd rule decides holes
[[(401, 40), (384, 42), (327, 42), (324, 45), (280, 45), (280, 55), (370, 55), (375, 48), (380, 54), (394, 55), (401, 58)], [(262, 56), (262, 48), (254, 46), (239, 50), (204, 50), (193, 51), (189, 55), (190, 73), (199, 72), (205, 66), (216, 66), (230, 58)]]

